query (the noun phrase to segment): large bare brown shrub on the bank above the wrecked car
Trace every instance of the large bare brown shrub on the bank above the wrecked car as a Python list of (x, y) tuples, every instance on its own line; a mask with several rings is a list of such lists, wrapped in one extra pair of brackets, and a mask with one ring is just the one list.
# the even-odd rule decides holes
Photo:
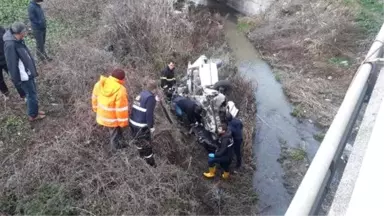
[[(173, 1), (109, 1), (103, 12), (104, 43), (115, 47), (123, 63), (160, 70), (169, 59), (188, 57), (215, 46), (223, 35), (220, 20), (209, 13), (175, 14)], [(222, 41), (222, 40), (221, 40)]]

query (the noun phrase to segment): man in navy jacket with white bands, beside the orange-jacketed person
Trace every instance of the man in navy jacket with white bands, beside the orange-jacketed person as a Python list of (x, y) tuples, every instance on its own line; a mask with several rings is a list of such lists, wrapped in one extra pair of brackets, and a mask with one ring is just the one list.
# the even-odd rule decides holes
[(147, 90), (144, 90), (136, 97), (129, 119), (132, 137), (134, 144), (139, 150), (140, 157), (145, 161), (156, 167), (155, 159), (153, 158), (153, 150), (151, 143), (151, 136), (153, 135), (154, 128), (154, 112), (157, 97), (156, 82), (149, 81), (147, 83)]

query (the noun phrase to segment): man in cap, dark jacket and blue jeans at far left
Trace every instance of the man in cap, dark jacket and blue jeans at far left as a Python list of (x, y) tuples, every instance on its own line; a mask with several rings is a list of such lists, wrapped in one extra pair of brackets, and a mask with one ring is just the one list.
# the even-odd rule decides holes
[(3, 36), (4, 52), (13, 83), (21, 86), (26, 93), (29, 120), (35, 121), (44, 118), (45, 113), (39, 111), (35, 84), (36, 65), (23, 40), (26, 34), (27, 28), (23, 23), (12, 24), (11, 29)]

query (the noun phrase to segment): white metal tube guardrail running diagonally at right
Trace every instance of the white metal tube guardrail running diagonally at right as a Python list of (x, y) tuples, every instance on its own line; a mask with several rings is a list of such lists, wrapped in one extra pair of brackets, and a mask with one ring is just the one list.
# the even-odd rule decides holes
[(362, 101), (367, 92), (373, 70), (373, 60), (382, 54), (384, 25), (373, 42), (366, 59), (359, 67), (320, 148), (304, 176), (286, 216), (316, 215), (324, 198), (324, 191), (331, 181), (336, 160), (345, 147)]

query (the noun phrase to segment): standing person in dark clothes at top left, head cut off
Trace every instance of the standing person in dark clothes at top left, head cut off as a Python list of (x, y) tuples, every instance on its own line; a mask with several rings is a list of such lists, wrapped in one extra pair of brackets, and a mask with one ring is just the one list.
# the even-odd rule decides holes
[(41, 8), (43, 0), (31, 0), (28, 7), (28, 17), (32, 25), (33, 36), (36, 40), (37, 57), (39, 60), (51, 60), (45, 52), (45, 38), (47, 32), (47, 24), (44, 11)]

